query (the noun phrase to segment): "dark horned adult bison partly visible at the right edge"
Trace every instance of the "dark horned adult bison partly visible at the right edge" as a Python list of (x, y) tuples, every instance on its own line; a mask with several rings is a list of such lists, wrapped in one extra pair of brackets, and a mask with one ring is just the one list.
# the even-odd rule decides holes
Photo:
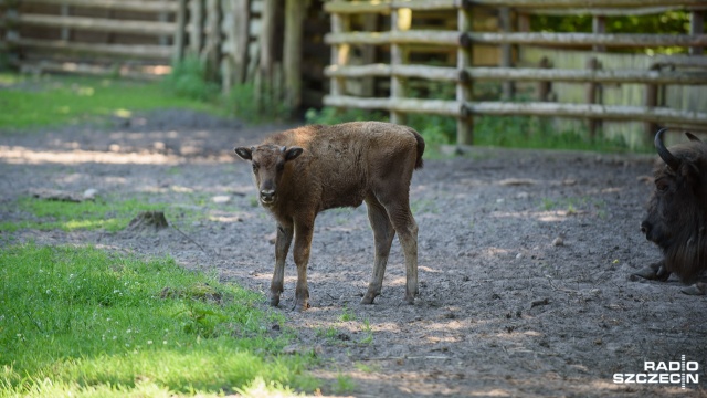
[[(637, 276), (665, 281), (675, 273), (685, 283), (695, 283), (683, 292), (704, 295), (707, 283), (707, 144), (690, 133), (689, 142), (663, 144), (661, 129), (655, 149), (661, 160), (655, 167), (655, 191), (641, 223), (646, 239), (657, 244), (662, 261), (636, 273)], [(701, 279), (701, 281), (700, 281)]]

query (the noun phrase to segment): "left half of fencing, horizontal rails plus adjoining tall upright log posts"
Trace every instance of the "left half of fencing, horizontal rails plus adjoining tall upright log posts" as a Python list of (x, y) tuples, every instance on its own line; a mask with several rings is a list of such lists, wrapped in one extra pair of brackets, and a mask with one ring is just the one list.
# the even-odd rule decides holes
[[(198, 56), (224, 91), (255, 83), (321, 106), (324, 0), (0, 0), (0, 54), (24, 71), (168, 73)], [(324, 27), (324, 28), (323, 28)]]

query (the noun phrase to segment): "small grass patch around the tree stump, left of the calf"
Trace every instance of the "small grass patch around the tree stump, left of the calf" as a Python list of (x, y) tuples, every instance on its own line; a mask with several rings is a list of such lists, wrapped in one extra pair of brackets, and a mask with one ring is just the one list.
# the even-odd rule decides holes
[[(127, 227), (140, 211), (163, 210), (167, 207), (163, 203), (148, 203), (137, 198), (127, 200), (98, 198), (95, 201), (75, 203), (29, 197), (3, 206), (12, 206), (13, 209), (31, 214), (22, 221), (0, 222), (0, 231), (9, 232), (20, 229), (63, 231), (105, 229), (108, 232), (115, 232)], [(0, 207), (0, 210), (3, 209)]]

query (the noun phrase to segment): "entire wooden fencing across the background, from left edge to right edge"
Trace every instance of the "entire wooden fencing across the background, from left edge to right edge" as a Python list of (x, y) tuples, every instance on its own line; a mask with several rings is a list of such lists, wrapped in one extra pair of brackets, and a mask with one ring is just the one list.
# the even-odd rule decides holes
[[(689, 12), (689, 32), (605, 32), (613, 15), (668, 10)], [(251, 83), (293, 108), (383, 109), (395, 123), (446, 115), (458, 144), (473, 143), (477, 115), (548, 116), (645, 142), (657, 125), (707, 132), (706, 10), (704, 0), (0, 0), (0, 53), (27, 71), (125, 76), (198, 56), (224, 91)], [(567, 14), (592, 15), (592, 32), (530, 32), (532, 15)], [(645, 54), (658, 48), (686, 51)]]

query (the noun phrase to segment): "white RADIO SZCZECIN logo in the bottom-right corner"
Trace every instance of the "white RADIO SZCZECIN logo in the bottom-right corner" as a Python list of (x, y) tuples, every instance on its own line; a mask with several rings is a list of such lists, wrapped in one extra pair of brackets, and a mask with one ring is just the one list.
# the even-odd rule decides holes
[(699, 384), (699, 363), (680, 360), (643, 363), (643, 373), (614, 374), (615, 384), (671, 384), (680, 385), (683, 389), (688, 384)]

